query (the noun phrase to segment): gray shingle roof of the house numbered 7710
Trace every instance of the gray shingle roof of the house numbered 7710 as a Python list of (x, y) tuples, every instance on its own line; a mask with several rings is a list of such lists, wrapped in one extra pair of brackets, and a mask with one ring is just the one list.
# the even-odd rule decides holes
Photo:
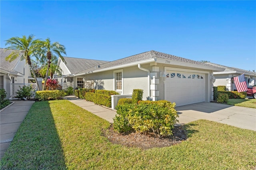
[[(161, 53), (161, 52), (158, 52), (158, 51), (151, 50), (151, 51), (147, 51), (147, 52), (144, 52), (144, 53), (132, 55), (130, 57), (126, 57), (126, 58), (123, 58), (123, 59), (118, 59), (116, 61), (111, 61), (111, 62), (102, 64), (102, 65), (100, 65), (99, 68), (97, 67), (96, 69), (99, 70), (99, 69), (105, 69), (105, 68), (109, 68), (109, 67), (115, 67), (115, 66), (118, 66), (118, 65), (124, 65), (124, 64), (133, 63), (133, 62), (136, 62), (136, 61), (151, 59), (151, 58), (154, 58), (154, 57), (158, 57), (158, 58), (162, 58), (162, 59), (169, 59), (169, 60), (174, 60), (174, 61), (182, 61), (182, 62), (185, 62), (185, 63), (193, 63), (193, 64), (212, 67), (212, 65), (208, 65), (207, 63), (194, 61), (194, 60), (191, 60), (191, 59), (177, 57), (175, 55), (170, 55), (170, 54)], [(84, 71), (80, 71), (80, 73), (90, 72), (90, 71), (94, 71), (96, 69), (95, 69), (95, 67), (91, 67), (91, 68), (86, 69)]]

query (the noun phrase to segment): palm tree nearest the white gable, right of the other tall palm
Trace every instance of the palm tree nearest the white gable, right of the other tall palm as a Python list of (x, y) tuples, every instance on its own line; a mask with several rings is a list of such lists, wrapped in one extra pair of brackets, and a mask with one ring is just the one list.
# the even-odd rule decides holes
[[(65, 62), (65, 59), (61, 54), (62, 53), (66, 54), (66, 48), (64, 47), (64, 45), (61, 45), (59, 42), (51, 43), (50, 38), (47, 38), (45, 41), (42, 41), (38, 47), (40, 48), (39, 49), (40, 58), (46, 59), (47, 57), (48, 59), (48, 68), (45, 75), (45, 81), (46, 81), (48, 77), (49, 69), (51, 67), (50, 64), (51, 64), (52, 55), (53, 56), (57, 55), (62, 59), (62, 61)], [(45, 89), (45, 85), (46, 83), (44, 83), (43, 90)]]

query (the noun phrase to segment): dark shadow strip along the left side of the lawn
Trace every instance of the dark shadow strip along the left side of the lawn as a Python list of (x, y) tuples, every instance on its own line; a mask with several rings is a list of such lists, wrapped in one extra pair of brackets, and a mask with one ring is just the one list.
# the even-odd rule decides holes
[(48, 101), (32, 105), (0, 166), (1, 169), (66, 169)]

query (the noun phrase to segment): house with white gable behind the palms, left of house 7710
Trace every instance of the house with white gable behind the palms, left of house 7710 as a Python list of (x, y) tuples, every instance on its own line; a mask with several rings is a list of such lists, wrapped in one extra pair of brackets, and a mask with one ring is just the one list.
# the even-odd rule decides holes
[(74, 88), (84, 87), (83, 78), (74, 77), (76, 73), (79, 73), (81, 70), (88, 69), (90, 67), (95, 67), (109, 61), (101, 61), (94, 59), (81, 59), (81, 58), (72, 58), (72, 57), (63, 57), (66, 61), (66, 64), (62, 61), (61, 58), (58, 59), (58, 66), (62, 70), (62, 77), (58, 77), (59, 82), (63, 83), (74, 83)]

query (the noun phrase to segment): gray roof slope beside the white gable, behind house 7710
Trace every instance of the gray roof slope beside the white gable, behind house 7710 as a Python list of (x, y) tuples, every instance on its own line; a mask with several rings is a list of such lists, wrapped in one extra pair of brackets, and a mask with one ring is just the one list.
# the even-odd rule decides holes
[(109, 62), (109, 61), (102, 61), (102, 60), (82, 59), (82, 58), (72, 58), (72, 57), (64, 57), (64, 59), (66, 61), (66, 66), (68, 67), (71, 74), (76, 74), (81, 70), (85, 70), (90, 67), (95, 67), (97, 65), (101, 65)]

